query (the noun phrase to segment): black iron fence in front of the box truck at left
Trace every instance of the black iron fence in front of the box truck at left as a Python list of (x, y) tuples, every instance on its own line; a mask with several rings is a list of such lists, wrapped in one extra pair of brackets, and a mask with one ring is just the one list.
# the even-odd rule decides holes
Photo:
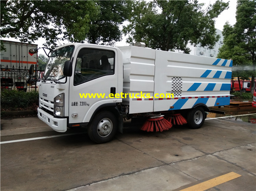
[(1, 91), (3, 89), (17, 89), (22, 91), (38, 91), (37, 81), (39, 81), (44, 73), (43, 70), (37, 69), (33, 73), (32, 80), (26, 81), (24, 76), (29, 75), (29, 68), (15, 68), (8, 65), (0, 65)]

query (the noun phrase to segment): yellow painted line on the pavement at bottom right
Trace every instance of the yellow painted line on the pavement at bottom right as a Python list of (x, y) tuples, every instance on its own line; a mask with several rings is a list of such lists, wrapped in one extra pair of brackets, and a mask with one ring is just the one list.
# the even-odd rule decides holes
[(223, 184), (224, 182), (228, 182), (230, 180), (233, 180), (235, 178), (240, 177), (241, 175), (231, 172), (231, 173), (227, 173), (225, 175), (222, 176), (218, 176), (216, 178), (212, 178), (211, 180), (207, 180), (205, 182), (202, 182), (200, 184), (196, 184), (194, 186), (182, 189), (180, 191), (204, 191), (207, 190), (209, 188), (212, 188), (214, 186), (218, 186), (219, 184)]

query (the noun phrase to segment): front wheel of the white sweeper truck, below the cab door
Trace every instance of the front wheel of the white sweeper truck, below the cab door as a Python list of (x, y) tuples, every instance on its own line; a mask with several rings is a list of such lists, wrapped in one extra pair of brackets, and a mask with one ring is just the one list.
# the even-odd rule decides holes
[(111, 141), (117, 132), (117, 120), (110, 111), (101, 111), (89, 123), (88, 135), (98, 144)]

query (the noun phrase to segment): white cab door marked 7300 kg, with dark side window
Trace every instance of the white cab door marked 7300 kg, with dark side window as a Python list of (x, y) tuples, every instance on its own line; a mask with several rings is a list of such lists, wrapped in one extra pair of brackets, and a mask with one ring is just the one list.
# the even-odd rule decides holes
[(78, 47), (69, 85), (69, 124), (89, 122), (98, 107), (121, 102), (109, 97), (118, 88), (117, 60), (115, 47)]

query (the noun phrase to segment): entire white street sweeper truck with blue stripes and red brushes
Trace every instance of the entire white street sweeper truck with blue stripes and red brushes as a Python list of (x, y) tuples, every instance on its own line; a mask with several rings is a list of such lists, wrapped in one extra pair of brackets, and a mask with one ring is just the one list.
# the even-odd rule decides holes
[(219, 58), (65, 44), (54, 49), (39, 82), (38, 117), (58, 132), (87, 126), (96, 143), (122, 132), (124, 117), (146, 117), (147, 131), (157, 131), (171, 127), (162, 115), (172, 124), (182, 124), (183, 116), (197, 129), (208, 107), (230, 104), (231, 69), (232, 60)]

